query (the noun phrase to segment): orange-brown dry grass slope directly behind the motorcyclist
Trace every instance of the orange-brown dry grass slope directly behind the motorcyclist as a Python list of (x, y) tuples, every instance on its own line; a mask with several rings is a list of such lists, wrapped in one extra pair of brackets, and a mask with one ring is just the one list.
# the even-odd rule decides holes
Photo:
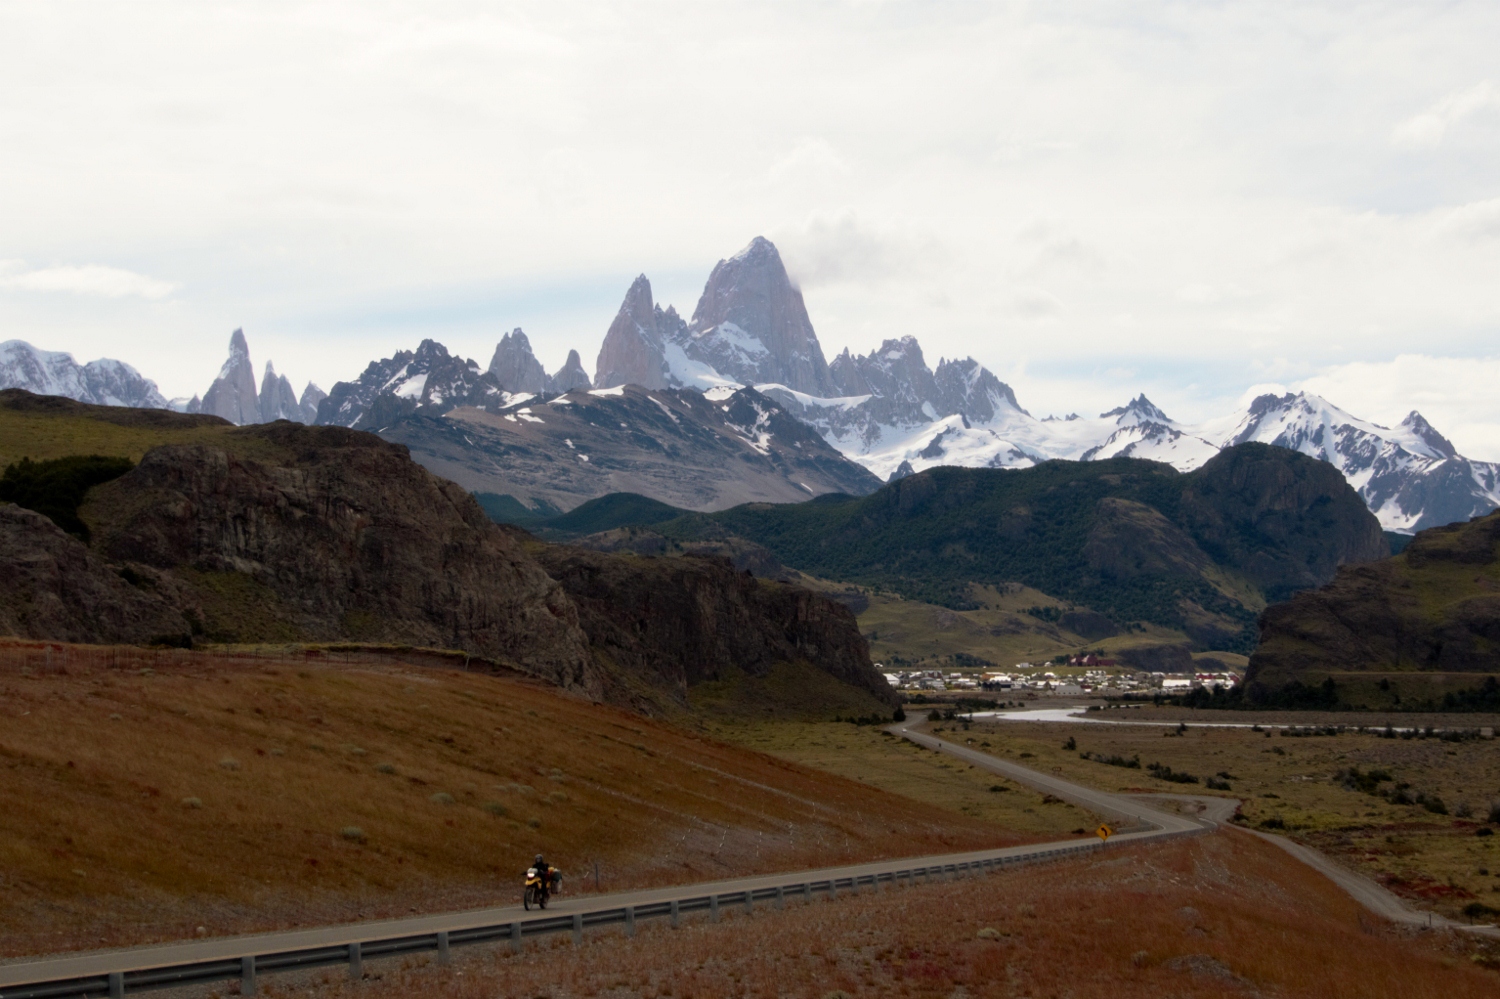
[(0, 644), (0, 956), (1028, 838), (525, 680)]

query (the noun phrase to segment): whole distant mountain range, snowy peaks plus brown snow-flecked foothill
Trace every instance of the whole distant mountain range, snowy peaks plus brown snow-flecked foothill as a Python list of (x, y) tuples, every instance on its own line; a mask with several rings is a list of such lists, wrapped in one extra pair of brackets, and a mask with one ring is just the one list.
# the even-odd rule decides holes
[[(28, 346), (27, 351), (36, 357), (68, 357)], [(72, 358), (68, 357), (68, 362), (72, 363)], [(123, 370), (140, 380), (120, 362), (93, 362), (88, 368), (94, 366), (102, 366), (99, 372)], [(0, 369), (0, 387), (56, 392), (88, 400), (126, 399), (111, 396), (108, 388), (92, 387), (104, 384), (99, 375), (90, 382), (84, 375), (48, 376), (44, 369), (40, 363), (8, 362)], [(814, 436), (834, 453), (816, 448), (820, 452), (818, 464), (825, 472), (831, 474), (838, 460), (846, 460), (868, 474), (844, 470), (816, 483), (801, 482), (790, 472), (777, 471), (776, 462), (765, 462), (765, 468), (752, 478), (764, 483), (778, 478), (778, 484), (770, 494), (736, 494), (748, 482), (740, 476), (742, 468), (723, 466), (712, 448), (687, 456), (681, 441), (658, 435), (654, 446), (636, 438), (626, 446), (627, 450), (618, 450), (624, 446), (615, 434), (618, 424), (639, 424), (624, 412), (608, 418), (598, 412), (597, 420), (570, 426), (562, 438), (566, 444), (560, 446), (552, 442), (543, 447), (543, 441), (528, 440), (496, 448), (496, 441), (504, 438), (482, 444), (478, 436), (484, 435), (464, 432), (464, 428), (476, 426), (476, 420), (484, 422), (477, 412), (498, 417), (488, 420), (486, 426), (504, 432), (530, 424), (524, 416), (540, 418), (534, 406), (554, 396), (566, 394), (578, 400), (580, 396), (576, 393), (592, 390), (592, 398), (598, 399), (600, 390), (621, 386), (639, 386), (648, 393), (722, 394), (720, 410), (732, 393), (753, 390), (754, 398), (746, 399), (765, 410), (768, 420), (790, 416), (816, 430)], [(90, 392), (93, 394), (87, 394)], [(154, 393), (154, 386), (150, 392)], [(578, 351), (568, 354), (562, 369), (549, 375), (526, 334), (516, 328), (501, 338), (488, 369), (482, 370), (474, 360), (452, 356), (429, 339), (416, 351), (370, 362), (358, 378), (338, 382), (327, 398), (322, 394), (309, 384), (300, 398), (294, 398), (291, 386), (278, 378), (270, 364), (256, 390), (249, 348), (243, 333), (236, 330), (230, 358), (208, 392), (201, 400), (174, 400), (174, 408), (212, 412), (232, 423), (291, 418), (372, 429), (390, 440), (406, 441), (418, 460), (434, 460), (435, 466), (441, 462), (442, 474), (456, 476), (476, 489), (483, 486), (524, 504), (564, 504), (562, 508), (603, 495), (594, 490), (626, 480), (632, 482), (633, 490), (666, 502), (718, 508), (772, 495), (789, 501), (832, 489), (858, 495), (878, 482), (938, 465), (1028, 468), (1053, 459), (1144, 458), (1192, 471), (1222, 448), (1250, 441), (1329, 462), (1388, 531), (1412, 534), (1480, 516), (1500, 506), (1500, 464), (1460, 454), (1416, 411), (1400, 426), (1386, 428), (1360, 420), (1312, 393), (1286, 392), (1260, 394), (1234, 412), (1198, 424), (1170, 418), (1144, 394), (1096, 417), (1070, 414), (1065, 418), (1038, 418), (1020, 405), (1010, 386), (972, 357), (939, 358), (936, 368), (928, 366), (915, 336), (885, 340), (879, 350), (864, 356), (844, 350), (828, 362), (801, 291), (776, 246), (762, 237), (714, 266), (688, 320), (675, 308), (663, 308), (654, 300), (645, 274), (636, 278), (606, 332), (592, 380)], [(657, 402), (662, 399), (664, 396)], [(159, 394), (156, 400), (138, 405), (156, 405)], [(528, 411), (519, 412), (522, 408)], [(668, 408), (675, 414), (674, 432), (684, 440), (723, 440), (728, 428), (714, 416), (714, 406), (684, 402), (668, 404)], [(708, 417), (708, 423), (693, 423), (698, 416)], [(452, 426), (442, 429), (444, 420)], [(682, 429), (684, 420), (690, 429)], [(544, 452), (548, 458), (537, 458), (540, 464), (530, 472), (507, 471), (504, 460), (518, 453), (513, 444), (525, 446), (534, 454)], [(800, 436), (795, 444), (806, 450), (810, 441)], [(645, 453), (638, 446), (658, 460), (686, 459), (682, 466), (694, 468), (693, 476), (717, 482), (694, 500), (680, 483), (668, 486), (670, 476), (652, 476), (638, 466)], [(588, 453), (592, 462), (614, 458), (615, 471), (621, 476), (594, 476), (586, 486), (579, 480), (552, 488), (548, 472), (558, 468), (576, 472), (578, 459), (562, 452), (578, 450)], [(754, 464), (756, 459), (747, 460)], [(720, 474), (722, 468), (728, 471)], [(837, 480), (846, 482), (837, 484)]]

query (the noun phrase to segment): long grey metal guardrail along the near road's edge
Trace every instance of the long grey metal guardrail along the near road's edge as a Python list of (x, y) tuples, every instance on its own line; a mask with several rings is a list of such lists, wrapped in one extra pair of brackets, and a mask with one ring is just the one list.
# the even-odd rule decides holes
[[(1206, 830), (1200, 830), (1198, 832)], [(1148, 836), (1149, 838), (1176, 838), (1180, 836), (1196, 834), (1197, 832), (1194, 831), (1186, 831)], [(636, 922), (640, 920), (664, 918), (670, 920), (672, 926), (676, 926), (684, 914), (708, 912), (710, 916), (717, 921), (720, 912), (734, 908), (750, 912), (758, 903), (770, 903), (772, 908), (780, 909), (788, 898), (812, 900), (814, 896), (834, 898), (840, 892), (858, 894), (866, 888), (879, 890), (885, 885), (910, 885), (915, 884), (916, 879), (932, 882), (938, 878), (946, 879), (950, 876), (962, 878), (990, 873), (1005, 867), (1034, 864), (1038, 861), (1077, 854), (1089, 854), (1102, 849), (1102, 843), (1082, 842), (1077, 844), (1050, 846), (1047, 849), (1029, 852), (998, 854), (970, 861), (933, 864), (926, 867), (892, 866), (862, 874), (794, 880), (771, 886), (746, 888), (741, 891), (687, 896), (682, 898), (610, 906), (588, 912), (542, 915), (526, 920), (470, 926), (432, 933), (380, 936), (346, 945), (308, 946), (291, 951), (264, 951), (240, 957), (219, 957), (183, 964), (122, 969), (82, 978), (58, 978), (6, 986), (0, 990), (0, 999), (93, 999), (94, 996), (118, 999), (128, 993), (236, 980), (240, 982), (240, 994), (250, 996), (255, 994), (256, 978), (260, 975), (274, 972), (348, 964), (350, 976), (360, 980), (363, 976), (363, 962), (381, 957), (399, 957), (404, 954), (424, 954), (435, 951), (438, 962), (446, 963), (448, 960), (448, 951), (453, 946), (508, 942), (513, 951), (520, 951), (525, 940), (532, 938), (549, 936), (554, 933), (572, 933), (573, 942), (578, 944), (584, 938), (584, 930), (614, 926), (622, 926), (627, 936), (634, 936)], [(122, 954), (120, 957), (122, 962), (128, 960), (128, 954)]]

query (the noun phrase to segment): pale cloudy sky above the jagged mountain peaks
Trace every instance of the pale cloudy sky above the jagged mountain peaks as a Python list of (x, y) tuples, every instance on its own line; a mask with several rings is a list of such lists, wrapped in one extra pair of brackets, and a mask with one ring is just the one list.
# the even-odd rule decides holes
[(1036, 416), (1306, 388), (1500, 460), (1500, 4), (0, 4), (0, 339), (202, 393), (592, 370), (776, 242)]

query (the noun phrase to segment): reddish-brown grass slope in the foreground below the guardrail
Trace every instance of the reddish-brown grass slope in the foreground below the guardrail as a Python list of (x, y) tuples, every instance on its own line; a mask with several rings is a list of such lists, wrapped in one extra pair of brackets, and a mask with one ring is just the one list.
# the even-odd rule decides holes
[[(990, 933), (993, 932), (993, 933)], [(982, 933), (982, 936), (981, 936)], [(670, 930), (456, 952), (272, 994), (342, 996), (1494, 996), (1494, 951), (1374, 921), (1320, 874), (1236, 832), (951, 885), (794, 903)]]

